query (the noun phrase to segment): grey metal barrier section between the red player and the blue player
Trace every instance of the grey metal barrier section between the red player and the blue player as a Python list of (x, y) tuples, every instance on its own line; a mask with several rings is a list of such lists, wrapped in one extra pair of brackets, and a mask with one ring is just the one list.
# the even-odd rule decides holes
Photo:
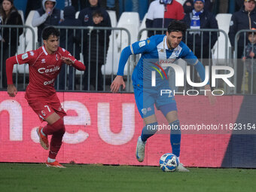
[[(67, 89), (67, 76), (69, 75), (69, 70), (67, 69), (68, 67), (65, 65), (65, 89), (64, 90), (87, 90), (87, 91), (99, 91), (98, 87), (100, 84), (103, 84), (102, 90), (100, 91), (110, 91), (110, 84), (111, 81), (113, 81), (114, 79), (114, 75), (117, 72), (117, 67), (118, 67), (118, 60), (120, 57), (120, 50), (117, 50), (117, 40), (118, 38), (120, 38), (120, 41), (122, 41), (123, 38), (123, 33), (126, 35), (127, 41), (126, 41), (126, 45), (128, 46), (130, 44), (130, 32), (127, 29), (124, 28), (111, 28), (111, 27), (92, 27), (92, 26), (88, 26), (88, 27), (73, 27), (73, 26), (55, 26), (57, 29), (62, 30), (65, 29), (66, 30), (66, 37), (65, 39), (59, 39), (59, 41), (66, 41), (66, 39), (68, 39), (68, 31), (72, 30), (73, 34), (76, 33), (76, 31), (80, 31), (81, 34), (81, 61), (85, 62), (85, 66), (87, 66), (87, 69), (84, 73), (81, 72), (76, 72), (75, 69), (74, 74), (76, 73), (79, 76), (78, 81), (80, 81), (79, 86), (77, 87), (77, 89), (75, 89), (75, 86), (72, 87), (72, 89)], [(108, 45), (108, 33), (111, 32), (111, 35), (109, 36), (109, 45)], [(118, 36), (118, 34), (121, 34)], [(87, 39), (84, 39), (84, 38)], [(92, 41), (92, 38), (95, 42)], [(104, 41), (104, 47), (102, 50), (100, 50), (101, 46), (99, 46), (100, 41)], [(68, 42), (66, 41), (66, 46), (64, 46), (63, 48), (69, 50), (69, 47), (67, 46)], [(96, 45), (96, 46), (94, 46)], [(75, 47), (75, 43), (73, 45)], [(92, 53), (92, 50), (94, 51)], [(87, 53), (85, 53), (85, 51), (87, 51)], [(72, 55), (75, 56), (75, 52), (72, 53)], [(99, 59), (100, 57), (103, 56), (105, 62), (103, 63), (104, 65), (102, 65), (102, 68), (99, 68), (99, 66), (101, 66), (102, 63), (99, 63)], [(94, 59), (92, 59), (92, 57)], [(96, 68), (95, 66), (96, 65)], [(98, 65), (99, 64), (99, 65)], [(95, 76), (95, 81), (94, 78), (92, 79), (91, 75), (93, 74), (93, 72), (96, 70), (96, 76)], [(126, 71), (124, 73), (125, 78), (126, 78), (126, 84), (130, 85), (131, 81), (130, 81), (130, 77), (131, 77), (131, 63), (130, 63), (130, 59), (127, 62), (126, 65)], [(103, 75), (103, 82), (100, 83), (99, 82), (99, 73), (102, 72)], [(74, 77), (73, 77), (74, 80)], [(82, 84), (82, 82), (86, 82), (86, 84)], [(93, 87), (92, 87), (92, 82), (93, 81)], [(108, 82), (107, 82), (108, 81)], [(59, 89), (59, 76), (56, 79), (56, 90), (62, 90)], [(87, 87), (87, 88), (84, 88)], [(94, 89), (92, 89), (94, 88)], [(130, 92), (130, 86), (127, 86), (127, 92)]]

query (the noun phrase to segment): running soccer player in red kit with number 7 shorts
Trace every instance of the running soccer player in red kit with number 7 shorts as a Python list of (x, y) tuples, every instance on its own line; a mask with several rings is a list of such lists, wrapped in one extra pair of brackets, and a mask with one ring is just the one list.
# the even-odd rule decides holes
[(60, 105), (53, 85), (62, 64), (66, 63), (66, 65), (74, 66), (80, 71), (84, 71), (85, 66), (75, 59), (69, 51), (59, 47), (59, 31), (53, 26), (43, 30), (42, 38), (44, 41), (42, 47), (24, 54), (11, 56), (6, 60), (8, 94), (11, 97), (17, 94), (17, 88), (14, 86), (12, 79), (14, 64), (28, 63), (29, 85), (26, 88), (25, 98), (41, 121), (47, 121), (46, 126), (40, 126), (37, 130), (41, 146), (46, 150), (49, 149), (47, 136), (52, 135), (46, 165), (65, 168), (55, 159), (65, 133), (63, 117), (66, 116), (66, 112)]

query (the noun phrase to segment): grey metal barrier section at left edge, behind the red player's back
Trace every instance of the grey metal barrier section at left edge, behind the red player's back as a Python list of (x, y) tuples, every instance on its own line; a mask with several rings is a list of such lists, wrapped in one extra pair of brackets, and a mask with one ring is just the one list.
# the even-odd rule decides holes
[[(0, 35), (3, 37), (4, 34), (4, 30), (5, 28), (8, 28), (8, 36), (9, 36), (9, 39), (8, 39), (8, 55), (5, 55), (5, 47), (4, 47), (4, 43), (3, 41), (0, 41), (0, 52), (1, 52), (1, 56), (0, 56), (0, 69), (1, 69), (1, 73), (0, 73), (0, 89), (6, 89), (6, 87), (3, 87), (3, 76), (5, 77), (5, 61), (4, 59), (5, 58), (8, 58), (9, 56), (11, 56), (11, 51), (15, 51), (14, 52), (14, 55), (15, 53), (17, 54), (17, 52), (20, 52), (20, 53), (25, 53), (25, 50), (26, 50), (26, 47), (25, 47), (25, 41), (26, 41), (26, 36), (25, 36), (25, 33), (28, 32), (28, 31), (31, 31), (32, 32), (32, 47), (33, 49), (35, 49), (35, 32), (33, 31), (33, 29), (30, 27), (30, 26), (14, 26), (14, 25), (1, 25), (0, 28), (2, 29), (1, 30), (1, 33)], [(12, 38), (11, 38), (11, 29), (20, 29), (22, 28), (23, 29), (23, 34), (22, 35), (19, 35), (19, 32), (17, 30), (16, 32), (16, 38), (17, 39), (20, 39), (20, 45), (18, 44), (18, 41), (16, 43), (16, 47), (17, 47), (17, 50), (11, 50), (11, 41), (12, 41)], [(26, 65), (24, 65), (22, 68), (23, 68), (23, 71), (25, 72), (26, 71)], [(16, 86), (18, 87), (18, 82), (20, 81), (20, 75), (19, 75), (19, 70), (20, 70), (20, 66), (14, 66), (14, 74), (15, 74), (15, 84)], [(23, 74), (23, 90), (26, 88), (26, 75), (25, 73)], [(20, 86), (19, 86), (20, 88)]]

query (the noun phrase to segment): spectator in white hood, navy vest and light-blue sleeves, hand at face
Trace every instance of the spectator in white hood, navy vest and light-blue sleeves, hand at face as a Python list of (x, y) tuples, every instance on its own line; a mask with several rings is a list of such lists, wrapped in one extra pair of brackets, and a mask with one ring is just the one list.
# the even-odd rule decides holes
[(38, 44), (41, 46), (41, 33), (46, 26), (57, 26), (61, 20), (63, 20), (63, 16), (61, 11), (56, 6), (56, 0), (43, 0), (42, 8), (35, 11), (32, 26), (38, 27)]

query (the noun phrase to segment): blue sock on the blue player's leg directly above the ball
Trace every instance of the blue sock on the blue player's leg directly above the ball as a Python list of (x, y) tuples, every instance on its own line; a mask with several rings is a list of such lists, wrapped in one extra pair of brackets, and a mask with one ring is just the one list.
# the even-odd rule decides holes
[(169, 123), (169, 126), (171, 126), (170, 141), (172, 145), (172, 154), (179, 157), (181, 151), (181, 127), (179, 126), (179, 120)]

